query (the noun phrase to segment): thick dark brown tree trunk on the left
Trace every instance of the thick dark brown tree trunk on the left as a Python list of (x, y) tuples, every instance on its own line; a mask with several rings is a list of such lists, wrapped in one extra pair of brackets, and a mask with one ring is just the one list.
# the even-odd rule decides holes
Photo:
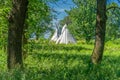
[(22, 33), (28, 0), (12, 0), (12, 10), (8, 17), (7, 67), (22, 67)]

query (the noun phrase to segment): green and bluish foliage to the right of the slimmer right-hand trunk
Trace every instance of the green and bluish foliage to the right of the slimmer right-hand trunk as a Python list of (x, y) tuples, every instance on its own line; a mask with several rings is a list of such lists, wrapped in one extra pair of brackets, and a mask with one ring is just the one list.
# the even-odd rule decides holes
[[(116, 6), (116, 3), (111, 3), (107, 7)], [(113, 40), (120, 37), (120, 10), (118, 8), (109, 9), (107, 11), (107, 26), (106, 26), (106, 40)]]

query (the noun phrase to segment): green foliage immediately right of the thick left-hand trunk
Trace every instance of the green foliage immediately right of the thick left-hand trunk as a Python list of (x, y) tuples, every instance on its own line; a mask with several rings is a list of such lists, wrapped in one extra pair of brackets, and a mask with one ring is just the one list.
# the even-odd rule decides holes
[(51, 20), (49, 6), (40, 0), (30, 0), (28, 6), (28, 18), (26, 22), (27, 34), (35, 33), (37, 37), (48, 30)]

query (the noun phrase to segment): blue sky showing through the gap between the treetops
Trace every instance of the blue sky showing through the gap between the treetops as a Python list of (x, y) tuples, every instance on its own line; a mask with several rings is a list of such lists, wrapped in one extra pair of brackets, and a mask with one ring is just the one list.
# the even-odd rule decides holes
[[(118, 3), (117, 0), (109, 0), (109, 1), (113, 1)], [(76, 7), (75, 4), (72, 2), (72, 0), (59, 0), (56, 3), (51, 3), (49, 4), (51, 8), (53, 8), (55, 11), (57, 11), (57, 13), (53, 13), (56, 14), (57, 17), (57, 21), (64, 19), (65, 16), (67, 16), (67, 13), (65, 12), (65, 10), (70, 10), (73, 7)], [(55, 22), (55, 20), (53, 20), (53, 22)]]

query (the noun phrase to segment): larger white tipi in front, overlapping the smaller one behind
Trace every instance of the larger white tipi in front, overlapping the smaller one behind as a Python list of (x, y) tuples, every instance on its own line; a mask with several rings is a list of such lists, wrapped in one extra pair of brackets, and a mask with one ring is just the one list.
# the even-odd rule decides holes
[(68, 43), (76, 43), (75, 39), (73, 36), (70, 34), (69, 30), (67, 29), (67, 25), (65, 24), (62, 28), (61, 35), (56, 41), (56, 44), (58, 43), (63, 43), (63, 44), (68, 44)]

